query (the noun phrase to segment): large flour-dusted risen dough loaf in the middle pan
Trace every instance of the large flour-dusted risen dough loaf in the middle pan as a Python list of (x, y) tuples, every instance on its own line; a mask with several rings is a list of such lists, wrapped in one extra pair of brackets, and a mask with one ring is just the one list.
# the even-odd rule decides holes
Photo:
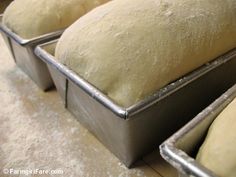
[(128, 107), (234, 47), (235, 0), (114, 0), (70, 26), (56, 58)]

